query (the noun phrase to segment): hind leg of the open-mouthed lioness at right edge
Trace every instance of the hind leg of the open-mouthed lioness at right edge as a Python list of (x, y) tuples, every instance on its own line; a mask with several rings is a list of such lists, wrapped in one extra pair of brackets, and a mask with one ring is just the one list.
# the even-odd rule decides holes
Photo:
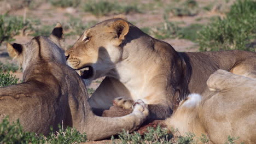
[(231, 73), (256, 79), (256, 57), (247, 58), (230, 70)]

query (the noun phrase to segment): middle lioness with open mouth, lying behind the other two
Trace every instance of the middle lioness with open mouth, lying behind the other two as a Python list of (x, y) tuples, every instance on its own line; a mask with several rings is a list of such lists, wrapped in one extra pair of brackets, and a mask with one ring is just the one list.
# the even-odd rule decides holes
[(92, 107), (109, 109), (117, 97), (142, 99), (150, 119), (169, 117), (189, 93), (209, 93), (206, 80), (218, 69), (247, 76), (256, 71), (255, 52), (177, 52), (123, 19), (87, 29), (65, 55), (85, 82), (107, 76), (89, 99)]

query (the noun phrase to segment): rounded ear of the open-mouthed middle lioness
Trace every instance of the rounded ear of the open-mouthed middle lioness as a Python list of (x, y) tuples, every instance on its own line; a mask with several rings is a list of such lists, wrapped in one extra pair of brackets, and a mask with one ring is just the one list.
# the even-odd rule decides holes
[(125, 35), (129, 32), (129, 24), (125, 20), (118, 20), (113, 23), (114, 32), (120, 40), (125, 39)]

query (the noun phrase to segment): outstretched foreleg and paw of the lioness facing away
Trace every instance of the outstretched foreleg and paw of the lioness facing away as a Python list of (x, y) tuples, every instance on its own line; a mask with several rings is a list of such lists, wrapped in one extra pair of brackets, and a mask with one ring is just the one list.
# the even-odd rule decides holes
[(98, 117), (91, 113), (87, 127), (84, 130), (89, 140), (101, 140), (111, 135), (117, 135), (123, 129), (132, 132), (146, 120), (148, 106), (142, 100), (137, 100), (132, 113), (123, 117)]

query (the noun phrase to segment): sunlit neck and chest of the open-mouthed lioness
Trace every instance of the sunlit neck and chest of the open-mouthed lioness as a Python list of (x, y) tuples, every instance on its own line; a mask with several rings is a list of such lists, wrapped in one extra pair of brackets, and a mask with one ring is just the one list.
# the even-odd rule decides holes
[(161, 97), (166, 95), (166, 71), (171, 68), (166, 47), (161, 50), (160, 41), (140, 31), (128, 34), (126, 41), (123, 46), (123, 59), (115, 64), (113, 73), (108, 76), (123, 83), (133, 99), (142, 98), (146, 103), (158, 104), (162, 101)]

